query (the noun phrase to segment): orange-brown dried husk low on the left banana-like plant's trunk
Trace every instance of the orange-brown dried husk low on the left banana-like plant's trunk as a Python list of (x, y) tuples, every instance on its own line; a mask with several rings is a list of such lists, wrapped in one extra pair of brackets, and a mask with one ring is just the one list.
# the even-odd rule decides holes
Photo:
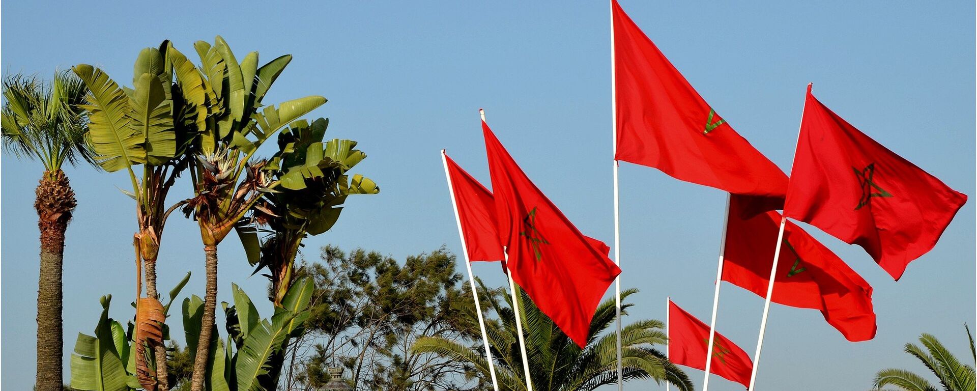
[(146, 349), (163, 344), (163, 305), (154, 297), (140, 297), (136, 305), (136, 377), (147, 391), (156, 389), (155, 370), (149, 368)]

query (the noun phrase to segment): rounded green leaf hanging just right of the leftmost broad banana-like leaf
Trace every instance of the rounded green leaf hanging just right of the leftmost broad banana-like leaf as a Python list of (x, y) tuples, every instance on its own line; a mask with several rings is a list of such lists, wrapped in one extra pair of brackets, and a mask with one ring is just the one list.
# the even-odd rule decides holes
[(131, 124), (146, 138), (149, 164), (162, 165), (176, 157), (177, 135), (170, 113), (172, 104), (166, 101), (163, 83), (157, 76), (143, 73), (139, 77), (129, 107), (132, 108)]

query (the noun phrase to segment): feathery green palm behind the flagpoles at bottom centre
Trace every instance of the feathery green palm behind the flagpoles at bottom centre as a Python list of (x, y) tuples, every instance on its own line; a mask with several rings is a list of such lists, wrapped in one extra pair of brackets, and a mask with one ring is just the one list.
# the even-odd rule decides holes
[[(518, 336), (516, 334), (515, 318), (513, 317), (512, 302), (503, 289), (489, 290), (480, 281), (479, 297), (486, 297), (487, 307), (499, 319), (486, 320), (488, 342), (495, 360), (495, 373), (499, 381), (499, 389), (506, 391), (526, 390), (523, 378), (523, 364), (520, 355)], [(526, 325), (526, 344), (531, 358), (530, 373), (535, 390), (546, 391), (590, 391), (599, 386), (614, 384), (617, 380), (616, 372), (616, 333), (604, 330), (615, 320), (615, 301), (607, 300), (594, 313), (590, 323), (588, 343), (580, 349), (566, 334), (564, 334), (549, 318), (547, 318), (521, 288), (520, 317)], [(621, 300), (637, 292), (628, 289), (621, 292)], [(502, 306), (499, 296), (505, 297), (507, 306)], [(624, 304), (621, 313), (633, 304)], [(468, 316), (465, 317), (469, 329), (479, 328), (476, 314), (471, 308), (462, 308)], [(488, 311), (486, 311), (488, 315)], [(623, 347), (623, 376), (624, 380), (652, 378), (660, 382), (668, 381), (680, 391), (692, 391), (693, 384), (689, 377), (668, 362), (668, 359), (650, 345), (663, 344), (667, 339), (661, 331), (662, 323), (655, 320), (643, 320), (627, 325), (621, 329), (621, 343)], [(603, 335), (599, 335), (603, 333)], [(478, 346), (466, 346), (455, 340), (443, 337), (424, 337), (418, 339), (413, 350), (423, 353), (436, 353), (446, 358), (461, 360), (472, 365), (479, 375), (489, 377), (488, 363), (483, 351)]]

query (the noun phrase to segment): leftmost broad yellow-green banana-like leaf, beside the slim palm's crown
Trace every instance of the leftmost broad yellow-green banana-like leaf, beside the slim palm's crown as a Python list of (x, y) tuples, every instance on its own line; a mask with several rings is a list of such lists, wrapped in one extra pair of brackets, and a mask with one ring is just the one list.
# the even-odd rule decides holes
[(92, 65), (71, 68), (88, 86), (88, 141), (95, 159), (108, 172), (145, 163), (146, 136), (131, 126), (129, 99), (102, 69)]

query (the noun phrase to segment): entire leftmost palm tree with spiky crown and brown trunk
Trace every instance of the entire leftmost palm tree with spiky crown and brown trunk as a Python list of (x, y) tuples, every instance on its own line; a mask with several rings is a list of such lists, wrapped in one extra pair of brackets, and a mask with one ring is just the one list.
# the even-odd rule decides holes
[(87, 119), (77, 107), (87, 89), (68, 72), (56, 73), (48, 85), (18, 74), (5, 78), (3, 88), (5, 149), (19, 158), (40, 160), (44, 165), (34, 199), (41, 233), (36, 387), (38, 391), (61, 391), (64, 231), (77, 205), (62, 165), (92, 162), (83, 136)]

